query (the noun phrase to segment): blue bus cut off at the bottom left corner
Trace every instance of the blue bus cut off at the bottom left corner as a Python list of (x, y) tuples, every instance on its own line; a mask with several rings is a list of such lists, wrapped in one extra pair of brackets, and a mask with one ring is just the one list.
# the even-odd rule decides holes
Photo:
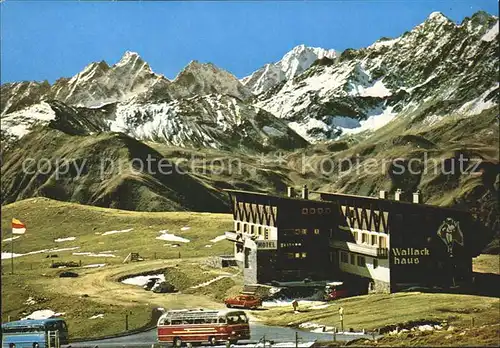
[(68, 326), (62, 318), (2, 324), (2, 348), (59, 348), (63, 344), (68, 344)]

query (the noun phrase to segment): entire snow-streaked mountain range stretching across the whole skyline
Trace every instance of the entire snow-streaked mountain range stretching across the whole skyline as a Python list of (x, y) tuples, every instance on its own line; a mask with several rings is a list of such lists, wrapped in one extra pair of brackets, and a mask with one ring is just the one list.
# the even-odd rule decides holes
[(115, 65), (92, 63), (53, 85), (2, 85), (2, 134), (19, 138), (47, 123), (50, 100), (76, 114), (93, 110), (109, 129), (177, 146), (260, 148), (277, 134), (314, 143), (402, 119), (405, 128), (421, 127), (498, 105), (497, 38), (498, 18), (487, 13), (457, 25), (435, 12), (399, 37), (340, 55), (297, 46), (241, 81), (197, 61), (170, 81), (127, 52)]

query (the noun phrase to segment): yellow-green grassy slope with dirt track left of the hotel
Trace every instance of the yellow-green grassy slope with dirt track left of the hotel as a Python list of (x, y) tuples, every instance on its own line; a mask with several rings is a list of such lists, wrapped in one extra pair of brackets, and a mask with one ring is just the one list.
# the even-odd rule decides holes
[[(18, 319), (35, 310), (51, 309), (65, 313), (73, 338), (95, 337), (123, 332), (125, 314), (129, 314), (129, 329), (141, 327), (148, 323), (152, 308), (157, 306), (220, 306), (215, 295), (153, 294), (117, 281), (125, 275), (152, 270), (161, 273), (169, 268), (176, 270), (179, 279), (192, 279), (195, 272), (200, 273), (200, 279), (216, 278), (222, 271), (206, 266), (204, 260), (232, 250), (228, 242), (210, 242), (231, 228), (232, 217), (228, 214), (133, 212), (33, 198), (2, 207), (2, 252), (10, 252), (11, 244), (4, 240), (10, 238), (13, 217), (27, 225), (27, 233), (14, 241), (14, 253), (51, 248), (78, 249), (50, 253), (57, 254), (57, 258), (47, 258), (48, 252), (16, 257), (14, 275), (9, 274), (10, 260), (3, 259), (2, 318), (5, 321), (8, 317)], [(129, 232), (104, 235), (105, 232), (131, 228)], [(162, 235), (160, 231), (165, 230), (190, 242), (156, 239)], [(54, 242), (56, 238), (67, 237), (75, 239)], [(172, 247), (171, 244), (175, 243), (180, 246)], [(73, 255), (74, 252), (103, 256)], [(129, 252), (138, 252), (146, 260), (122, 264)], [(194, 259), (186, 261), (187, 258)], [(82, 267), (54, 269), (51, 268), (52, 260), (81, 261)], [(101, 263), (106, 266), (85, 268)], [(80, 276), (59, 278), (58, 275), (65, 270), (77, 272)], [(236, 278), (231, 279), (234, 281), (227, 284), (228, 288), (238, 282)], [(29, 298), (35, 303), (30, 304)], [(104, 314), (104, 318), (89, 320), (97, 314)]]

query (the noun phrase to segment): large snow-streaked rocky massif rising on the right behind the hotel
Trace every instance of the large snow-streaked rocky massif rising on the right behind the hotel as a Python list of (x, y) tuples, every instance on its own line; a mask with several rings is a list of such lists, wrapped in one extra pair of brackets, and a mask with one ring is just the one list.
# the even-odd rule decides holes
[(307, 140), (376, 130), (412, 114), (425, 121), (498, 104), (498, 18), (460, 25), (441, 13), (395, 39), (344, 51), (258, 96)]

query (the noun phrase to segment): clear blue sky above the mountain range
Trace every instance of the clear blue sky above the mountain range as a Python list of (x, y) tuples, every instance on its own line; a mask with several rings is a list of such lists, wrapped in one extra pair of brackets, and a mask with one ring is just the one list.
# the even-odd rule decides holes
[(1, 6), (1, 81), (73, 76), (127, 50), (174, 78), (196, 59), (238, 77), (299, 44), (344, 50), (399, 36), (441, 11), (461, 22), (497, 0), (76, 2), (6, 0)]

